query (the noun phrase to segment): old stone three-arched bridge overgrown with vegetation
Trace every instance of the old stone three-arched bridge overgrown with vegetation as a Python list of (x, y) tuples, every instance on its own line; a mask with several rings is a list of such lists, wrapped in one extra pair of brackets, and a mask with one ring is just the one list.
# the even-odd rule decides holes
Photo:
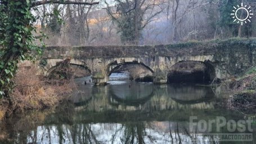
[[(167, 83), (172, 71), (191, 74), (197, 65), (212, 82), (239, 75), (256, 64), (255, 39), (229, 39), (188, 42), (158, 46), (80, 46), (46, 47), (44, 74), (51, 73), (56, 62), (70, 58), (70, 64), (89, 70), (93, 82), (104, 84), (122, 65), (140, 65), (151, 71), (154, 83)], [(186, 64), (187, 62), (187, 64)], [(203, 77), (203, 76), (202, 76)]]

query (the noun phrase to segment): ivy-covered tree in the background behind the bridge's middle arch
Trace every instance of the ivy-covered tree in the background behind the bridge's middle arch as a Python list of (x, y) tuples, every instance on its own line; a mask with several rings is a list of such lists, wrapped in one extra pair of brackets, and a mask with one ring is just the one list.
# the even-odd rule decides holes
[[(159, 2), (161, 3), (161, 2)], [(155, 10), (155, 1), (145, 0), (116, 1), (115, 12), (105, 1), (107, 13), (113, 22), (116, 23), (120, 39), (123, 44), (138, 44), (142, 37), (142, 30), (162, 10)], [(155, 10), (155, 12), (153, 12)], [(148, 11), (150, 15), (146, 15)], [(118, 13), (118, 15), (116, 15)]]

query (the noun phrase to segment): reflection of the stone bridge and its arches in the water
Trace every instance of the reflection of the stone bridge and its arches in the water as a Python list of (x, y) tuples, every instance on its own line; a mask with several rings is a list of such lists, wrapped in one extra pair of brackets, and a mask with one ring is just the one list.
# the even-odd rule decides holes
[(82, 86), (73, 101), (77, 109), (84, 106), (101, 110), (170, 110), (214, 109), (214, 91), (209, 86), (155, 85), (114, 81), (106, 87)]

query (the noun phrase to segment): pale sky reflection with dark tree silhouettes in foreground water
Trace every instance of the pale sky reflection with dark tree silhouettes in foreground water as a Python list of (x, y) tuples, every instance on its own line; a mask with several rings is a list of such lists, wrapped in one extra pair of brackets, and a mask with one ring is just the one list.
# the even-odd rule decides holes
[[(39, 133), (38, 133), (39, 132)], [(209, 137), (193, 137), (181, 123), (138, 122), (96, 123), (39, 126), (27, 138), (28, 143), (197, 143), (209, 142)], [(37, 135), (37, 136), (35, 136)], [(36, 138), (36, 139), (35, 139)], [(20, 141), (16, 141), (19, 143)]]

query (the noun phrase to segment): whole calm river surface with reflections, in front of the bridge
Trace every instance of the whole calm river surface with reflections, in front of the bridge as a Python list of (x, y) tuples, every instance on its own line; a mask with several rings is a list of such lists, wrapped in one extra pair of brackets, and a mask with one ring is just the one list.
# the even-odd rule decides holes
[[(88, 81), (89, 77), (75, 80), (78, 88), (70, 99), (72, 105), (7, 119), (2, 129), (8, 140), (1, 142), (235, 143), (205, 137), (196, 128), (190, 132), (190, 116), (206, 121), (216, 116), (227, 120), (245, 116), (219, 106), (228, 104), (218, 87), (129, 82), (124, 73), (112, 74), (105, 87)], [(216, 133), (214, 125), (209, 133)], [(221, 133), (230, 132), (223, 128)]]

